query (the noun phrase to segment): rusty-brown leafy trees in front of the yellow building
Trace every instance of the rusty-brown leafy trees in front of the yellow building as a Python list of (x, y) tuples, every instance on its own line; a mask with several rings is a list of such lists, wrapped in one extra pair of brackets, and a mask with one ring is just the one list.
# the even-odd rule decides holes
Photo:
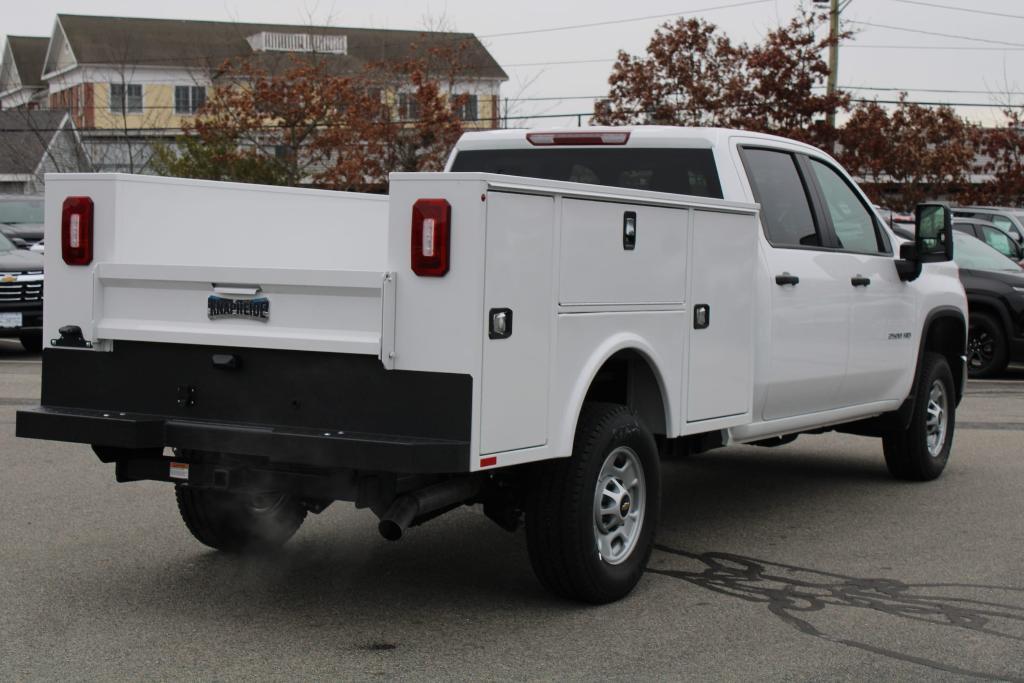
[(459, 45), (446, 45), (355, 75), (339, 75), (316, 55), (292, 56), (274, 70), (227, 62), (177, 150), (159, 154), (158, 169), (384, 191), (392, 171), (440, 170), (462, 134), (466, 95), (454, 93), (460, 54)]

